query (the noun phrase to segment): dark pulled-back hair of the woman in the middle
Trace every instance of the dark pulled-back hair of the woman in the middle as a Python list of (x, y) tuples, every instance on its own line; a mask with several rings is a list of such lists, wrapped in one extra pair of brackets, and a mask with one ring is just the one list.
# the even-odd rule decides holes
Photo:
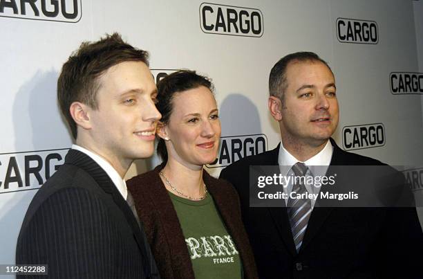
[[(158, 111), (162, 114), (160, 122), (163, 124), (169, 123), (169, 118), (173, 111), (173, 98), (176, 93), (202, 86), (207, 87), (212, 93), (214, 92), (212, 81), (203, 75), (198, 75), (196, 71), (180, 70), (160, 80), (157, 84), (158, 93), (156, 103)], [(158, 141), (157, 153), (163, 162), (167, 162), (166, 144), (162, 138)]]

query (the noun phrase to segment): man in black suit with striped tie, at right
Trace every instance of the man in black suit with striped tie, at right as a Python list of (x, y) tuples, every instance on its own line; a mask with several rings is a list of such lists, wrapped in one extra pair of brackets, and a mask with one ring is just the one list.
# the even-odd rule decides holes
[[(311, 165), (323, 166), (326, 174), (335, 165), (384, 165), (345, 152), (330, 138), (339, 118), (335, 77), (318, 55), (283, 57), (269, 84), (268, 107), (279, 123), (281, 143), (220, 173), (240, 195), (260, 278), (423, 278), (418, 268), (423, 234), (413, 207), (326, 207), (319, 206), (324, 204), (319, 198), (289, 196), (281, 207), (250, 207), (247, 174), (252, 165), (285, 165), (288, 174), (304, 176), (310, 175)], [(288, 195), (301, 190), (313, 193), (316, 188), (301, 183), (283, 188)]]

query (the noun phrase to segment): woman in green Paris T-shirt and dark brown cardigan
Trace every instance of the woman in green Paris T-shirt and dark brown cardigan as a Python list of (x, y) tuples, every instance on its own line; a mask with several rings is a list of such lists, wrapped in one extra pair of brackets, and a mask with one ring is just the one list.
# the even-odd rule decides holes
[(257, 278), (236, 191), (203, 170), (220, 138), (212, 91), (195, 71), (158, 83), (163, 163), (127, 182), (162, 278)]

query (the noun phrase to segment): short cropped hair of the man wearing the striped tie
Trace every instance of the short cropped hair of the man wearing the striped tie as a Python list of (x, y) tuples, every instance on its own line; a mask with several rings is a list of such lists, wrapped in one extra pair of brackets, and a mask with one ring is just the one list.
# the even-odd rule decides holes
[[(283, 103), (283, 94), (285, 90), (288, 88), (288, 82), (286, 80), (286, 69), (288, 64), (291, 62), (322, 62), (326, 66), (328, 66), (329, 70), (330, 66), (328, 63), (321, 59), (319, 55), (316, 53), (308, 52), (308, 51), (300, 51), (298, 53), (291, 53), (281, 58), (276, 64), (274, 64), (272, 71), (270, 71), (269, 75), (269, 92), (270, 96), (275, 96), (281, 100)], [(333, 72), (332, 72), (333, 75)]]

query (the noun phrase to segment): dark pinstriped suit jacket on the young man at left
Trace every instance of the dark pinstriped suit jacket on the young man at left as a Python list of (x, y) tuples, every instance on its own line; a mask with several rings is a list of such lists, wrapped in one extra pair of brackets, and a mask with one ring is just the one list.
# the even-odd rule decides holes
[(131, 208), (100, 165), (77, 150), (32, 199), (16, 262), (48, 264), (48, 278), (160, 278)]

